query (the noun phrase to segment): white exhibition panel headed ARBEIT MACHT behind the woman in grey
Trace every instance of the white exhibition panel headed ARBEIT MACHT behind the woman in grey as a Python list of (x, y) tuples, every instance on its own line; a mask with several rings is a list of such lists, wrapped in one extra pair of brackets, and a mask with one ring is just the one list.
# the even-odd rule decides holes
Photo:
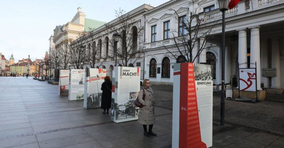
[(135, 100), (140, 91), (139, 67), (114, 67), (112, 73), (112, 118), (119, 123), (138, 119)]

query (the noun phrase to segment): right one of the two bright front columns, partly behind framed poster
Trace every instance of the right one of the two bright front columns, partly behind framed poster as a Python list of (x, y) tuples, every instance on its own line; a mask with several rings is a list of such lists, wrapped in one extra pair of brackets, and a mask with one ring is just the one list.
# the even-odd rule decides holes
[(249, 28), (251, 30), (251, 68), (256, 67), (257, 90), (262, 90), (260, 87), (261, 69), (260, 69), (260, 42), (259, 42), (259, 26)]

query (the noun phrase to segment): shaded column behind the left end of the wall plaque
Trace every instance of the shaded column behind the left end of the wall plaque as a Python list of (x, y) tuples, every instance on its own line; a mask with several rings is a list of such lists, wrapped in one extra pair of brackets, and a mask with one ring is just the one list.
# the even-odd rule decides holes
[[(260, 40), (260, 68), (268, 68), (268, 38)], [(264, 87), (269, 87), (269, 78), (261, 76), (261, 82), (264, 83)]]

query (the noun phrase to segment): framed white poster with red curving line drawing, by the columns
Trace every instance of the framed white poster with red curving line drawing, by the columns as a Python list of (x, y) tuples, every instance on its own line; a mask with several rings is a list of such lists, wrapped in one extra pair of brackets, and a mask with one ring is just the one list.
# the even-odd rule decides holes
[(255, 68), (239, 68), (239, 90), (256, 91)]

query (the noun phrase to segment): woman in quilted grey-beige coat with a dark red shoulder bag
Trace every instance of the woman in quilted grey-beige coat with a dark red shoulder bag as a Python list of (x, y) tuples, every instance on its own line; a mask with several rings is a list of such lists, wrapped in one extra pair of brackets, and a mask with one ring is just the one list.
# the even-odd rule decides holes
[[(138, 123), (143, 124), (145, 136), (147, 137), (149, 137), (150, 135), (156, 136), (157, 134), (152, 132), (152, 127), (153, 124), (155, 123), (155, 114), (154, 114), (155, 101), (153, 98), (153, 90), (150, 87), (149, 79), (144, 79), (142, 85), (143, 88), (139, 92), (138, 100), (143, 105), (143, 107), (139, 109)], [(145, 100), (143, 100), (143, 93), (145, 94), (144, 98)], [(147, 125), (149, 125), (148, 132), (147, 132)]]

